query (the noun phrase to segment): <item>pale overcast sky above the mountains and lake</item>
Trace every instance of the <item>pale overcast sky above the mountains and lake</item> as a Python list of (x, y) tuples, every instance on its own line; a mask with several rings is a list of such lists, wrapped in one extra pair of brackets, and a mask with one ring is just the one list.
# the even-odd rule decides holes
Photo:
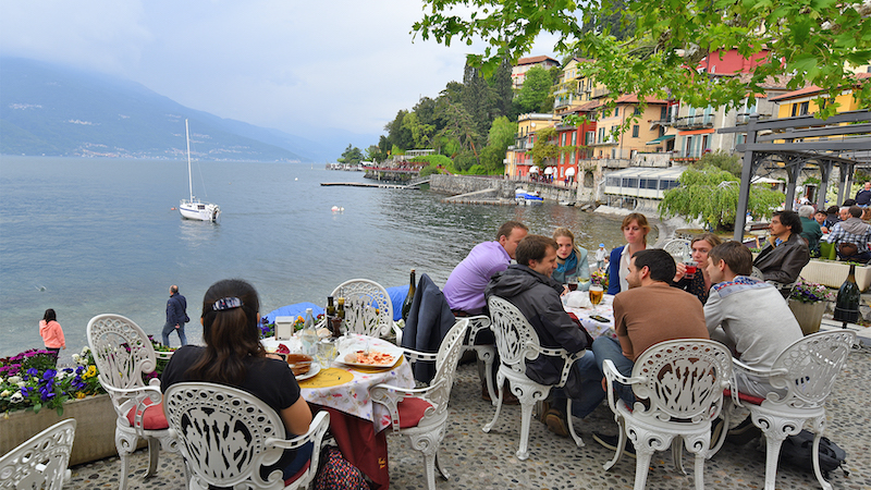
[[(0, 0), (0, 53), (130, 78), (293, 134), (378, 135), (400, 109), (462, 82), (465, 54), (482, 52), (412, 42), (421, 15), (418, 0)], [(542, 39), (531, 54), (552, 47)]]

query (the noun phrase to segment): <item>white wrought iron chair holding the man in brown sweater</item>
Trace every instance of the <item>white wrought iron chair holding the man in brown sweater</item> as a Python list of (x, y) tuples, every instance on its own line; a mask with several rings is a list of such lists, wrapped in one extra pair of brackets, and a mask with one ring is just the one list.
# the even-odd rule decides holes
[[(696, 489), (702, 490), (702, 465), (711, 442), (711, 422), (723, 407), (723, 390), (732, 384), (732, 354), (723, 344), (707, 339), (680, 339), (648, 347), (635, 362), (631, 378), (617, 371), (611, 359), (603, 363), (608, 404), (619, 425), (619, 441), (611, 469), (623, 455), (626, 438), (635, 445), (635, 489), (647, 483), (654, 451), (671, 445), (674, 465), (684, 475), (684, 441), (696, 455)], [(629, 384), (636, 401), (629, 407), (614, 395), (614, 382)]]

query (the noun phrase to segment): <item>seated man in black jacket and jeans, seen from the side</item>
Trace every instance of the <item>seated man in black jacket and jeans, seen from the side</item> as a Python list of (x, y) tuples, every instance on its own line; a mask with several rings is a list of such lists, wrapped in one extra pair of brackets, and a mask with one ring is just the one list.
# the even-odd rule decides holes
[[(563, 286), (551, 279), (556, 269), (556, 242), (547, 236), (528, 235), (517, 245), (516, 256), (516, 265), (493, 275), (484, 296), (495, 295), (516, 306), (536, 330), (542, 347), (562, 347), (573, 354), (588, 348), (589, 334), (565, 313), (560, 301)], [(541, 384), (555, 384), (562, 369), (563, 362), (559, 357), (539, 356), (526, 364), (526, 376)], [(602, 372), (592, 352), (575, 363), (565, 384), (565, 393), (577, 402), (574, 415), (587, 416), (604, 399), (601, 379)], [(561, 436), (568, 434), (564, 406), (564, 400), (554, 399), (544, 414), (544, 422)]]

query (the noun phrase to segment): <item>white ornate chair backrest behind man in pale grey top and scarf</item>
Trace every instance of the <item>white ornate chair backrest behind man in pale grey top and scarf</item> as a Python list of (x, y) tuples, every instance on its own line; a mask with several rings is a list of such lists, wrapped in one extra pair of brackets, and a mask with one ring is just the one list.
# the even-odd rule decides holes
[(786, 390), (786, 394), (781, 400), (776, 393), (769, 393), (763, 405), (824, 405), (855, 341), (856, 332), (851, 330), (832, 330), (805, 336), (786, 347), (774, 360), (769, 378), (773, 388)]

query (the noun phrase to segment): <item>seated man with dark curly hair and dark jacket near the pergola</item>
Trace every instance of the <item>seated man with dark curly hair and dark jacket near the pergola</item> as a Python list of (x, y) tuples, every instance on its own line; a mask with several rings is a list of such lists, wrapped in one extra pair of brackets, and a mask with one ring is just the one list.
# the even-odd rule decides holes
[(769, 224), (769, 238), (759, 253), (756, 266), (765, 281), (780, 285), (786, 297), (801, 269), (810, 261), (810, 250), (801, 240), (801, 219), (795, 211), (774, 211)]

